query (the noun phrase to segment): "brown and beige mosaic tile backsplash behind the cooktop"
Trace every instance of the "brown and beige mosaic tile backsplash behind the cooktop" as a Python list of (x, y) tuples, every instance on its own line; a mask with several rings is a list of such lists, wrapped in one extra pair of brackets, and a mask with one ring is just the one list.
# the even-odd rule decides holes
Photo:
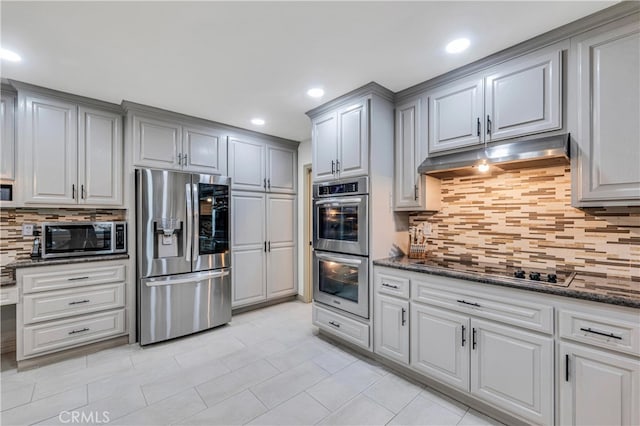
[(640, 208), (571, 207), (569, 166), (442, 179), (428, 255), (640, 280)]

